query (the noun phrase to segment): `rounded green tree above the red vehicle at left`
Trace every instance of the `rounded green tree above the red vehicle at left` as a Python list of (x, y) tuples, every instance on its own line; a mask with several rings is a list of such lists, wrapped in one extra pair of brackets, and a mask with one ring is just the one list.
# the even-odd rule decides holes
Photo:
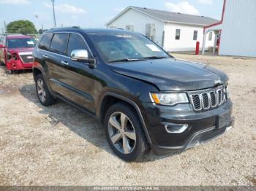
[(29, 20), (15, 20), (7, 25), (9, 34), (37, 34), (37, 29)]

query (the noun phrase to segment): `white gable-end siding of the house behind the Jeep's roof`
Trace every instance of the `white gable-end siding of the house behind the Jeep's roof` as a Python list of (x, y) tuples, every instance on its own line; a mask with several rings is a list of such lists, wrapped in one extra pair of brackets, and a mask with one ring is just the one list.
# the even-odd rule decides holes
[(156, 36), (155, 42), (162, 46), (162, 32), (164, 30), (164, 23), (153, 17), (149, 17), (141, 12), (135, 11), (134, 9), (129, 9), (123, 15), (118, 17), (116, 20), (113, 20), (107, 27), (108, 28), (126, 28), (126, 26), (130, 25), (134, 27), (135, 32), (139, 32), (141, 34), (146, 33), (146, 24), (155, 24)]

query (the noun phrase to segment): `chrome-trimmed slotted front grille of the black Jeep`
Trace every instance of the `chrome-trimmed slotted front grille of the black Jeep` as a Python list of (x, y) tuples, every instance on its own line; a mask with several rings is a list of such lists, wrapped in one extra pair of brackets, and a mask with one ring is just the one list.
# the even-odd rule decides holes
[(225, 102), (225, 87), (191, 92), (189, 98), (195, 111), (213, 109)]

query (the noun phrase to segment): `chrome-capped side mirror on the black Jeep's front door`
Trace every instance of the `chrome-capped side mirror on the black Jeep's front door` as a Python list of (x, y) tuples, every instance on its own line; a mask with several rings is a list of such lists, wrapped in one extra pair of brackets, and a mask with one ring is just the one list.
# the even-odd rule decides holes
[(70, 55), (72, 61), (83, 61), (89, 63), (90, 68), (95, 67), (94, 59), (90, 59), (87, 50), (73, 50)]

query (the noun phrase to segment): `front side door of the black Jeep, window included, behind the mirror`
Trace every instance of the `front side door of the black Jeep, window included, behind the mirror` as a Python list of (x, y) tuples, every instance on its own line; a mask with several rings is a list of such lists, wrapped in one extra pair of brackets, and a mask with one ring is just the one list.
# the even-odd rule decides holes
[(74, 101), (79, 106), (95, 112), (94, 108), (94, 69), (89, 67), (89, 63), (82, 61), (72, 61), (70, 59), (73, 50), (87, 50), (89, 58), (92, 58), (89, 47), (85, 39), (80, 34), (69, 34), (69, 42), (67, 45), (67, 58), (61, 62), (62, 66), (68, 70), (69, 75), (65, 77), (64, 83), (69, 86), (69, 99)]

